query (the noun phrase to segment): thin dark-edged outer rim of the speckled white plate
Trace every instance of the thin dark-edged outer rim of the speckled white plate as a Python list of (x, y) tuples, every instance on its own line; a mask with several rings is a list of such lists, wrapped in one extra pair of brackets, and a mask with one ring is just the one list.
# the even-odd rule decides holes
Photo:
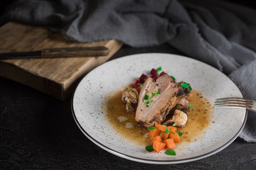
[[(154, 55), (154, 54), (157, 54), (157, 55), (161, 55), (161, 54), (164, 54), (164, 55), (173, 55), (173, 54), (166, 54), (166, 53), (143, 53), (143, 54), (151, 54), (151, 55)], [(142, 55), (142, 54), (137, 54), (137, 55)], [(134, 56), (134, 55), (128, 55), (128, 56), (124, 56), (124, 57), (130, 57), (130, 56)], [(181, 55), (175, 55), (177, 57), (185, 57), (185, 56), (181, 56)], [(124, 57), (120, 57), (120, 58), (117, 58), (115, 60), (119, 60), (119, 59), (122, 59)], [(192, 58), (189, 58), (189, 57), (185, 57), (185, 58), (188, 58), (189, 60), (193, 60), (194, 62), (200, 62), (198, 60), (194, 60)], [(109, 62), (114, 62), (115, 60), (111, 60)], [(105, 62), (104, 64), (106, 64), (107, 62)], [(206, 64), (204, 62), (200, 62), (201, 64)], [(102, 65), (104, 64), (101, 64), (100, 66), (98, 67), (101, 67)], [(211, 67), (212, 69), (215, 69), (214, 67), (206, 64), (208, 67)], [(96, 67), (97, 68), (97, 67)], [(218, 69), (215, 69), (215, 71), (217, 72), (220, 72)], [(223, 74), (222, 72), (220, 72), (221, 74)], [(225, 74), (223, 74), (224, 77), (226, 77), (227, 79), (230, 79), (229, 77), (227, 77)], [(86, 77), (86, 76), (85, 76)], [(81, 80), (82, 81), (82, 80)], [(230, 79), (230, 81), (232, 81)], [(235, 85), (235, 83), (232, 81), (233, 85)], [(79, 83), (80, 84), (80, 83)], [(78, 84), (78, 86), (79, 86)], [(78, 88), (78, 86), (75, 88), (75, 91), (76, 89)], [(245, 110), (245, 117), (244, 117), (244, 120), (243, 120), (243, 123), (240, 127), (240, 129), (238, 130), (238, 132), (235, 134), (234, 137), (232, 137), (228, 142), (226, 142), (224, 145), (222, 145), (221, 147), (218, 147), (217, 149), (214, 149), (213, 151), (211, 152), (208, 152), (206, 154), (201, 154), (197, 157), (191, 157), (191, 158), (187, 158), (187, 159), (179, 159), (179, 160), (169, 160), (169, 161), (165, 161), (165, 160), (152, 160), (152, 159), (142, 159), (142, 158), (138, 158), (138, 157), (132, 157), (130, 155), (127, 155), (127, 154), (123, 154), (121, 152), (117, 152), (115, 151), (114, 149), (111, 149), (110, 147), (107, 147), (106, 145), (102, 145), (102, 143), (100, 143), (99, 141), (95, 140), (93, 137), (91, 137), (83, 128), (82, 126), (80, 125), (80, 123), (78, 122), (78, 118), (76, 118), (75, 116), (75, 111), (74, 111), (74, 106), (73, 106), (73, 101), (74, 101), (74, 97), (75, 97), (75, 91), (73, 91), (73, 97), (72, 97), (72, 100), (71, 100), (71, 111), (72, 111), (72, 114), (73, 114), (73, 118), (75, 120), (75, 123), (78, 125), (78, 128), (82, 131), (82, 133), (90, 140), (92, 141), (93, 143), (95, 143), (95, 145), (97, 145), (98, 147), (101, 147), (102, 149), (105, 149), (107, 152), (110, 152), (118, 157), (122, 157), (124, 159), (128, 159), (128, 160), (131, 160), (131, 161), (134, 161), (134, 162), (141, 162), (141, 163), (146, 163), (146, 164), (183, 164), (183, 163), (187, 163), (187, 162), (194, 162), (194, 161), (197, 161), (197, 160), (200, 160), (200, 159), (204, 159), (206, 157), (210, 157), (211, 155), (213, 154), (216, 154), (218, 152), (220, 152), (221, 150), (225, 149), (225, 147), (228, 147), (228, 145), (230, 145), (239, 135), (240, 133), (242, 132), (242, 129), (245, 127), (245, 123), (246, 123), (246, 120), (247, 120), (247, 110)], [(239, 90), (240, 91), (240, 90)], [(240, 94), (242, 95), (241, 91), (240, 91)]]

